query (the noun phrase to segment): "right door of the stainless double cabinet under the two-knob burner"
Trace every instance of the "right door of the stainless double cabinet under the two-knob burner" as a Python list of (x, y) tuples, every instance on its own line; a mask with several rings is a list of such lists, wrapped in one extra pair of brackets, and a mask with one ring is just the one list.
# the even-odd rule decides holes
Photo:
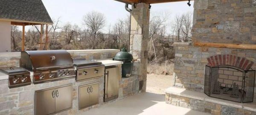
[(90, 101), (91, 105), (96, 105), (99, 103), (99, 83), (93, 84), (90, 86)]

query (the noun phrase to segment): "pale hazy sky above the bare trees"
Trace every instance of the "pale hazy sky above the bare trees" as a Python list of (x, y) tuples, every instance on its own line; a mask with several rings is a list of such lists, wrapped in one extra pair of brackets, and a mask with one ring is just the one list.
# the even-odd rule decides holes
[[(107, 25), (113, 25), (116, 20), (129, 15), (125, 10), (125, 3), (115, 0), (42, 0), (52, 20), (60, 17), (61, 25), (65, 23), (77, 24), (82, 27), (82, 18), (90, 11), (98, 11), (105, 15)], [(193, 12), (193, 3), (188, 1), (175, 3), (152, 4), (151, 13), (169, 11), (170, 19), (176, 14)], [(170, 20), (171, 21), (171, 20)]]

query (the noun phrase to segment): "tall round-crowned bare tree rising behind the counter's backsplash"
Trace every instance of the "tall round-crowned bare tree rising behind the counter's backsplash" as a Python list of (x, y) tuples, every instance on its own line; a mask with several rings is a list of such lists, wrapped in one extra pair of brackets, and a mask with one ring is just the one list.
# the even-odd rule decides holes
[(83, 23), (91, 32), (91, 48), (95, 49), (96, 43), (99, 41), (96, 39), (99, 34), (99, 30), (105, 26), (105, 16), (102, 13), (91, 11), (84, 15)]

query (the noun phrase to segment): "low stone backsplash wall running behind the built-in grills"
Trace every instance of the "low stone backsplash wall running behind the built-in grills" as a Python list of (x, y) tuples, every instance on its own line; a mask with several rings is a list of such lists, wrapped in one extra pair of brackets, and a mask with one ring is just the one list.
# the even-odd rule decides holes
[[(119, 49), (68, 50), (72, 58), (101, 60), (113, 58)], [(0, 67), (19, 66), (20, 52), (0, 52)]]

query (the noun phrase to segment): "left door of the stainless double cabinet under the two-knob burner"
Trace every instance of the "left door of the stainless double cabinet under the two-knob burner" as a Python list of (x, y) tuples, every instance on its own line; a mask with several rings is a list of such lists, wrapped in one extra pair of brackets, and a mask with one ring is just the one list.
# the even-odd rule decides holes
[(79, 110), (90, 106), (90, 86), (79, 86)]

